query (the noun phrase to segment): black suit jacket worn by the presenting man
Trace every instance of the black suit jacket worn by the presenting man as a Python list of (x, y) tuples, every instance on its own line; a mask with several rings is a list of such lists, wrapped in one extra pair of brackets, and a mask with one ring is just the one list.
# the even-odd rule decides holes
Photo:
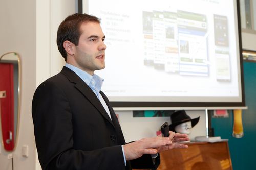
[(32, 102), (34, 134), (42, 169), (156, 169), (150, 155), (127, 161), (125, 144), (113, 108), (106, 113), (95, 93), (72, 70), (61, 72), (38, 86)]

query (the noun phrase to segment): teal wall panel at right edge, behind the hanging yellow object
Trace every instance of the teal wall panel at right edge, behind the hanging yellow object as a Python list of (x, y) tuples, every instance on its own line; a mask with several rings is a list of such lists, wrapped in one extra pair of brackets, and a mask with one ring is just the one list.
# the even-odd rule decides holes
[(233, 170), (256, 169), (256, 63), (244, 62), (245, 103), (247, 110), (243, 110), (244, 137), (232, 137), (233, 114), (228, 118), (212, 118), (215, 136), (229, 139), (229, 151)]

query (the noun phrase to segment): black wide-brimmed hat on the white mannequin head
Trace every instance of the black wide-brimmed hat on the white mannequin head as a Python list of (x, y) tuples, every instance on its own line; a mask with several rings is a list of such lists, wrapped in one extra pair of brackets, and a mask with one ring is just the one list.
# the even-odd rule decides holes
[(174, 112), (172, 115), (170, 115), (170, 121), (172, 124), (169, 125), (170, 131), (176, 132), (175, 127), (179, 124), (182, 124), (184, 122), (191, 121), (192, 127), (194, 127), (198, 121), (199, 117), (191, 119), (185, 112), (185, 110), (178, 110)]

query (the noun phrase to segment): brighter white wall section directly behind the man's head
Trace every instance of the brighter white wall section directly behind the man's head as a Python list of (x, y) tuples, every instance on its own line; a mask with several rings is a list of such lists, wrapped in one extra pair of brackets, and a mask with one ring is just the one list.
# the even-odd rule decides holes
[(56, 44), (60, 22), (75, 13), (77, 1), (37, 0), (36, 3), (36, 86), (56, 75), (65, 60)]

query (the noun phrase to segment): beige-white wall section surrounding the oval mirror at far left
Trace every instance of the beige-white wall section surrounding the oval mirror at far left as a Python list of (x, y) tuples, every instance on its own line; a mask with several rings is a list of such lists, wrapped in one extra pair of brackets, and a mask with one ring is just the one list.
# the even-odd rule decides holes
[[(21, 115), (19, 138), (13, 152), (14, 169), (34, 169), (35, 142), (31, 118), (31, 100), (35, 89), (36, 24), (35, 1), (9, 0), (0, 2), (0, 54), (15, 51), (22, 61)], [(2, 141), (2, 134), (0, 137)], [(29, 146), (29, 157), (22, 156), (22, 146)], [(11, 159), (0, 147), (0, 169), (11, 169)]]

